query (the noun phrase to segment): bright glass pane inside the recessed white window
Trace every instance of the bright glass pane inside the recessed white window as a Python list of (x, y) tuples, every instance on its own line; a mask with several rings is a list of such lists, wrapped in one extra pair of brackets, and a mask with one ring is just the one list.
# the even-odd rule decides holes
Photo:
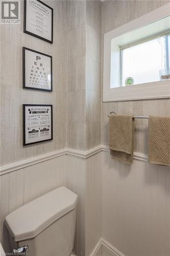
[(132, 45), (120, 47), (121, 86), (132, 77), (133, 84), (155, 82), (170, 78), (170, 35), (155, 36)]

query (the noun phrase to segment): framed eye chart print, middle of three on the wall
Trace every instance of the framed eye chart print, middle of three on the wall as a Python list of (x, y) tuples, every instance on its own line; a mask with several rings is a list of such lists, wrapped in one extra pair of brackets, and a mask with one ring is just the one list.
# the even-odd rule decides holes
[(22, 87), (52, 92), (52, 56), (23, 47), (22, 59)]

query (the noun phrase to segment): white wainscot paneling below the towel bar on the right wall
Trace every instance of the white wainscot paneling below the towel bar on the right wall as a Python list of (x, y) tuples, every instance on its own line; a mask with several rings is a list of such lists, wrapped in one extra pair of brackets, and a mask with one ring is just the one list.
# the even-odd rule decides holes
[(170, 255), (170, 169), (104, 152), (102, 184), (102, 237), (126, 256)]

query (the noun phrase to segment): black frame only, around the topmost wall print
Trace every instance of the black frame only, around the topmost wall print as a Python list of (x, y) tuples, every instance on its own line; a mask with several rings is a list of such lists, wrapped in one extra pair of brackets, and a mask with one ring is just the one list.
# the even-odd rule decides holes
[(42, 5), (46, 6), (47, 8), (51, 9), (51, 11), (52, 11), (52, 22), (51, 22), (51, 24), (52, 24), (52, 27), (51, 27), (52, 36), (51, 36), (51, 40), (48, 40), (48, 39), (46, 39), (46, 38), (44, 38), (42, 36), (39, 36), (39, 35), (37, 35), (35, 33), (32, 33), (32, 32), (27, 30), (27, 0), (24, 0), (24, 6), (23, 6), (23, 32), (27, 33), (29, 35), (35, 36), (35, 37), (37, 37), (37, 38), (39, 38), (41, 40), (44, 40), (46, 42), (50, 42), (50, 44), (53, 44), (53, 8), (48, 6), (48, 5), (46, 5), (46, 4), (44, 4), (40, 0), (34, 0), (34, 1), (39, 2), (40, 4), (42, 4)]

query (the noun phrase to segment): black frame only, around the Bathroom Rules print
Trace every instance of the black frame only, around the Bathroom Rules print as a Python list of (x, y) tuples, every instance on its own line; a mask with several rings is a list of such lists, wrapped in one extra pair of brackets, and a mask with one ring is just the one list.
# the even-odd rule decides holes
[[(39, 140), (35, 142), (26, 143), (26, 106), (45, 106), (51, 108), (51, 138), (45, 140)], [(23, 134), (23, 146), (37, 144), (41, 142), (53, 140), (53, 105), (52, 104), (22, 104), (22, 134)]]

